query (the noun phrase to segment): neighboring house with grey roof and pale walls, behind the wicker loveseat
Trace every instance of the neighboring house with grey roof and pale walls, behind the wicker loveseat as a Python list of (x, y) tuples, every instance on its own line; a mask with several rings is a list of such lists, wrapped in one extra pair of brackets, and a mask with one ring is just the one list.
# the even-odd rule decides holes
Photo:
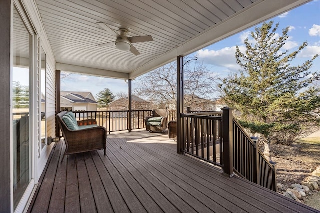
[(61, 91), (61, 111), (97, 111), (97, 105), (91, 92)]

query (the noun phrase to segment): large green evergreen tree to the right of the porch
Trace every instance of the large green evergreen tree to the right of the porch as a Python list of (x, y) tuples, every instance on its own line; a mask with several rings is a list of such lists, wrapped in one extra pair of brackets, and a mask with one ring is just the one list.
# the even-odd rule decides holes
[(277, 36), (278, 23), (263, 23), (251, 32), (245, 53), (236, 47), (235, 57), (241, 70), (222, 79), (224, 100), (237, 111), (242, 126), (258, 133), (262, 141), (271, 140), (290, 144), (314, 131), (319, 125), (313, 111), (320, 107), (319, 88), (312, 83), (319, 73), (308, 71), (315, 55), (302, 65), (291, 62), (308, 44), (304, 42), (296, 51), (283, 51), (289, 27)]

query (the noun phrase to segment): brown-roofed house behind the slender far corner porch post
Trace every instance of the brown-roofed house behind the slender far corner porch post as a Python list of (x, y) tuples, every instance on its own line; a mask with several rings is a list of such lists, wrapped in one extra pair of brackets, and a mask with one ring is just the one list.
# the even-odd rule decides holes
[[(110, 110), (128, 110), (128, 99), (119, 98), (109, 103)], [(152, 109), (152, 102), (146, 101), (138, 96), (132, 95), (132, 109)]]

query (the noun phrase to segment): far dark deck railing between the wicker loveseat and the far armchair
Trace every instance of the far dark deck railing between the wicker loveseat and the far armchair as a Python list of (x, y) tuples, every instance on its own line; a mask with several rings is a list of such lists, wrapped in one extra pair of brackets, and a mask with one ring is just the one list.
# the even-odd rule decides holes
[[(99, 126), (106, 128), (107, 132), (129, 130), (128, 110), (107, 111), (73, 111), (78, 120), (94, 118)], [(152, 110), (132, 110), (131, 128), (145, 128), (144, 117), (151, 116)]]

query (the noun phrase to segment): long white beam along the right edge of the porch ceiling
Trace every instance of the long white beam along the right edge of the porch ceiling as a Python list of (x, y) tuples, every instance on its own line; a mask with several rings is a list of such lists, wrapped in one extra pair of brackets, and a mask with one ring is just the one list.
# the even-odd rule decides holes
[(220, 23), (210, 27), (198, 36), (189, 39), (131, 72), (129, 79), (134, 79), (144, 73), (172, 62), (176, 60), (176, 57), (179, 55), (185, 56), (198, 51), (309, 1), (311, 0), (258, 0), (242, 11), (237, 12)]

